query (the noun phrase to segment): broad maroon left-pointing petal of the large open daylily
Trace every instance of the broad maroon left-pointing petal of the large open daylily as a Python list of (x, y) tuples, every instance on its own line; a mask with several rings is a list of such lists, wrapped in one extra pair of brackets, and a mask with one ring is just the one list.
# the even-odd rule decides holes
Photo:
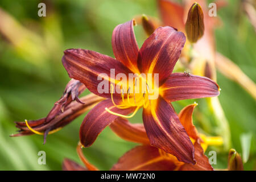
[[(67, 69), (69, 77), (81, 81), (90, 92), (101, 97), (110, 97), (110, 84), (106, 89), (108, 93), (99, 93), (97, 90), (104, 78), (110, 82), (110, 69), (114, 69), (114, 78), (118, 73), (125, 75), (133, 73), (116, 59), (85, 49), (67, 49), (64, 51), (62, 62), (65, 69)], [(105, 76), (101, 75), (100, 79), (98, 79), (100, 74), (105, 74)], [(117, 83), (114, 78), (112, 84)], [(116, 92), (113, 95), (120, 97), (120, 94)]]

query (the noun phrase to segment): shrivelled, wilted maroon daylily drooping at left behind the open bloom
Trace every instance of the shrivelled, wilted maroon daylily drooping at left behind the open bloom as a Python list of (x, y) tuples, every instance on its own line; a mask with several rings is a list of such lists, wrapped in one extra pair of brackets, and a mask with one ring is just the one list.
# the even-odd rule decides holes
[[(16, 122), (19, 133), (10, 135), (11, 137), (19, 137), (23, 135), (39, 134), (44, 135), (44, 143), (48, 134), (55, 133), (63, 128), (75, 118), (79, 117), (85, 111), (91, 109), (104, 98), (89, 94), (82, 98), (78, 96), (85, 90), (84, 84), (78, 80), (72, 79), (68, 82), (63, 96), (59, 101), (55, 102), (47, 117), (32, 121)], [(76, 102), (72, 102), (76, 101)]]

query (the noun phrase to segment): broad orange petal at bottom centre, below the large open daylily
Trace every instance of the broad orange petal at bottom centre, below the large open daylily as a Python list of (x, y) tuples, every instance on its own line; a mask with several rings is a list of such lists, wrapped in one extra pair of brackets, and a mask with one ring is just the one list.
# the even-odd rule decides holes
[(171, 171), (175, 168), (175, 163), (160, 155), (158, 148), (137, 146), (119, 158), (117, 164), (111, 170)]

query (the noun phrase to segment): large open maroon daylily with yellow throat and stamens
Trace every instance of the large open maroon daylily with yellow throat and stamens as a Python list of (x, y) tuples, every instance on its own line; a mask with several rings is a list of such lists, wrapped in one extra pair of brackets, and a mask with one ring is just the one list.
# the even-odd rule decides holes
[[(112, 35), (112, 47), (115, 59), (86, 49), (67, 49), (64, 51), (63, 65), (71, 78), (80, 80), (94, 94), (107, 98), (95, 106), (85, 117), (80, 127), (82, 146), (89, 147), (102, 130), (119, 117), (131, 118), (143, 107), (143, 123), (152, 146), (175, 155), (185, 163), (195, 164), (194, 148), (184, 127), (181, 125), (170, 102), (190, 98), (214, 97), (220, 94), (218, 85), (207, 77), (172, 73), (181, 49), (185, 44), (182, 32), (172, 27), (159, 27), (138, 48), (133, 26), (134, 20), (119, 24)], [(114, 78), (111, 77), (114, 69)], [(117, 78), (122, 73), (158, 73), (159, 85), (152, 84), (146, 78), (135, 77), (132, 80), (134, 90), (146, 92), (131, 94), (134, 90), (122, 84), (121, 95), (114, 88), (122, 83)], [(107, 91), (98, 92), (102, 78), (108, 81)], [(144, 79), (144, 85), (138, 84)], [(155, 82), (154, 82), (155, 83)], [(106, 89), (104, 87), (104, 89)], [(159, 93), (158, 98), (150, 99), (151, 93)], [(126, 92), (127, 90), (127, 92)], [(128, 115), (133, 113), (131, 115)]]

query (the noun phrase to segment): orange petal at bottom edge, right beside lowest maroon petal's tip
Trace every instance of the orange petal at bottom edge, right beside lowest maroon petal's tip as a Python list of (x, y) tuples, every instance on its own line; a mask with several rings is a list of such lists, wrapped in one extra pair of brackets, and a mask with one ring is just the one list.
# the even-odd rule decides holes
[(195, 159), (196, 164), (183, 164), (179, 168), (180, 171), (213, 171), (212, 166), (210, 166), (209, 159), (204, 155), (204, 150), (201, 147), (199, 139), (196, 140), (195, 144)]

